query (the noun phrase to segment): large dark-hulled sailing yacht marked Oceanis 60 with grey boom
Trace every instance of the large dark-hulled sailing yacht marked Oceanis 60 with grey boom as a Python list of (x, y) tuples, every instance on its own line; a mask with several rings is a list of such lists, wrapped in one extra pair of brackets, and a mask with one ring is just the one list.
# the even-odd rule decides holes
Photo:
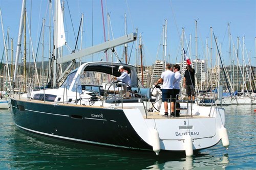
[[(56, 3), (55, 3), (56, 4)], [(136, 33), (58, 58), (56, 63), (79, 59), (137, 39)], [(55, 42), (56, 43), (56, 42)], [(130, 74), (131, 84), (114, 82), (118, 67)], [(123, 85), (129, 93), (122, 93)], [(13, 122), (20, 130), (46, 138), (105, 147), (162, 152), (194, 151), (229, 146), (225, 110), (178, 101), (180, 117), (163, 117), (153, 105), (161, 101), (151, 88), (141, 88), (136, 67), (118, 62), (87, 62), (72, 70), (58, 88), (10, 96)], [(163, 105), (162, 103), (160, 105)]]

